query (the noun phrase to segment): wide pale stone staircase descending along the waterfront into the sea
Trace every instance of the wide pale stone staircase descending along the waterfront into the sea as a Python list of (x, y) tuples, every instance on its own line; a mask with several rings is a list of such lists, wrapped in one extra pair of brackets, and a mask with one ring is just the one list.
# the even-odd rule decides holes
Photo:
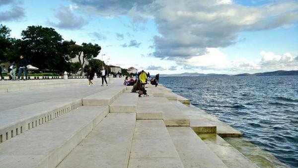
[(0, 111), (0, 167), (257, 167), (221, 138), (240, 132), (188, 99), (162, 85), (138, 97), (120, 83)]

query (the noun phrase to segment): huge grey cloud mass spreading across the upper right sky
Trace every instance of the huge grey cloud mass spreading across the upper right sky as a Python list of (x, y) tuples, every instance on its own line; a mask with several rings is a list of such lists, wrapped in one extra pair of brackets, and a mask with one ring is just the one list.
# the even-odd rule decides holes
[(134, 24), (142, 27), (147, 19), (154, 20), (159, 35), (153, 37), (154, 52), (150, 55), (186, 66), (186, 60), (204, 56), (210, 48), (236, 43), (240, 32), (274, 29), (298, 21), (295, 0), (268, 1), (259, 6), (244, 6), (232, 0), (72, 1), (81, 10), (101, 16), (126, 14), (133, 20), (132, 29), (136, 29)]

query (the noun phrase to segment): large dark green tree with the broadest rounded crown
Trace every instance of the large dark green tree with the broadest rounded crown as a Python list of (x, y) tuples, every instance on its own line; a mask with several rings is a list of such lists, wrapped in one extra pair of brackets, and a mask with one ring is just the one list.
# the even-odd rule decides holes
[(42, 69), (64, 71), (69, 68), (69, 50), (74, 41), (62, 42), (62, 36), (53, 28), (28, 26), (22, 33), (22, 51), (30, 64)]

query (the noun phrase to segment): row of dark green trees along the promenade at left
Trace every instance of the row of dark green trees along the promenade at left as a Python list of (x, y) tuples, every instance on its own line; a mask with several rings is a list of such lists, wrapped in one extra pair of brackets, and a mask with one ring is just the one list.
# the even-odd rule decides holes
[[(21, 39), (10, 38), (10, 29), (0, 25), (0, 61), (18, 62), (23, 55), (29, 64), (40, 70), (78, 71), (85, 61), (96, 57), (101, 50), (98, 44), (65, 41), (54, 28), (42, 26), (28, 26), (21, 32)], [(71, 63), (71, 59), (78, 57), (79, 64)], [(78, 68), (78, 65), (80, 66)]]

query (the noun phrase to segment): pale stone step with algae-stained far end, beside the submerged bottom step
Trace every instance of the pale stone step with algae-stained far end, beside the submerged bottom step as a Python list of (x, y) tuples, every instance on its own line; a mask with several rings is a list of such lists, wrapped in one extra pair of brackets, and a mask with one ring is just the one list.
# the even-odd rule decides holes
[(228, 168), (258, 168), (217, 134), (198, 134)]

